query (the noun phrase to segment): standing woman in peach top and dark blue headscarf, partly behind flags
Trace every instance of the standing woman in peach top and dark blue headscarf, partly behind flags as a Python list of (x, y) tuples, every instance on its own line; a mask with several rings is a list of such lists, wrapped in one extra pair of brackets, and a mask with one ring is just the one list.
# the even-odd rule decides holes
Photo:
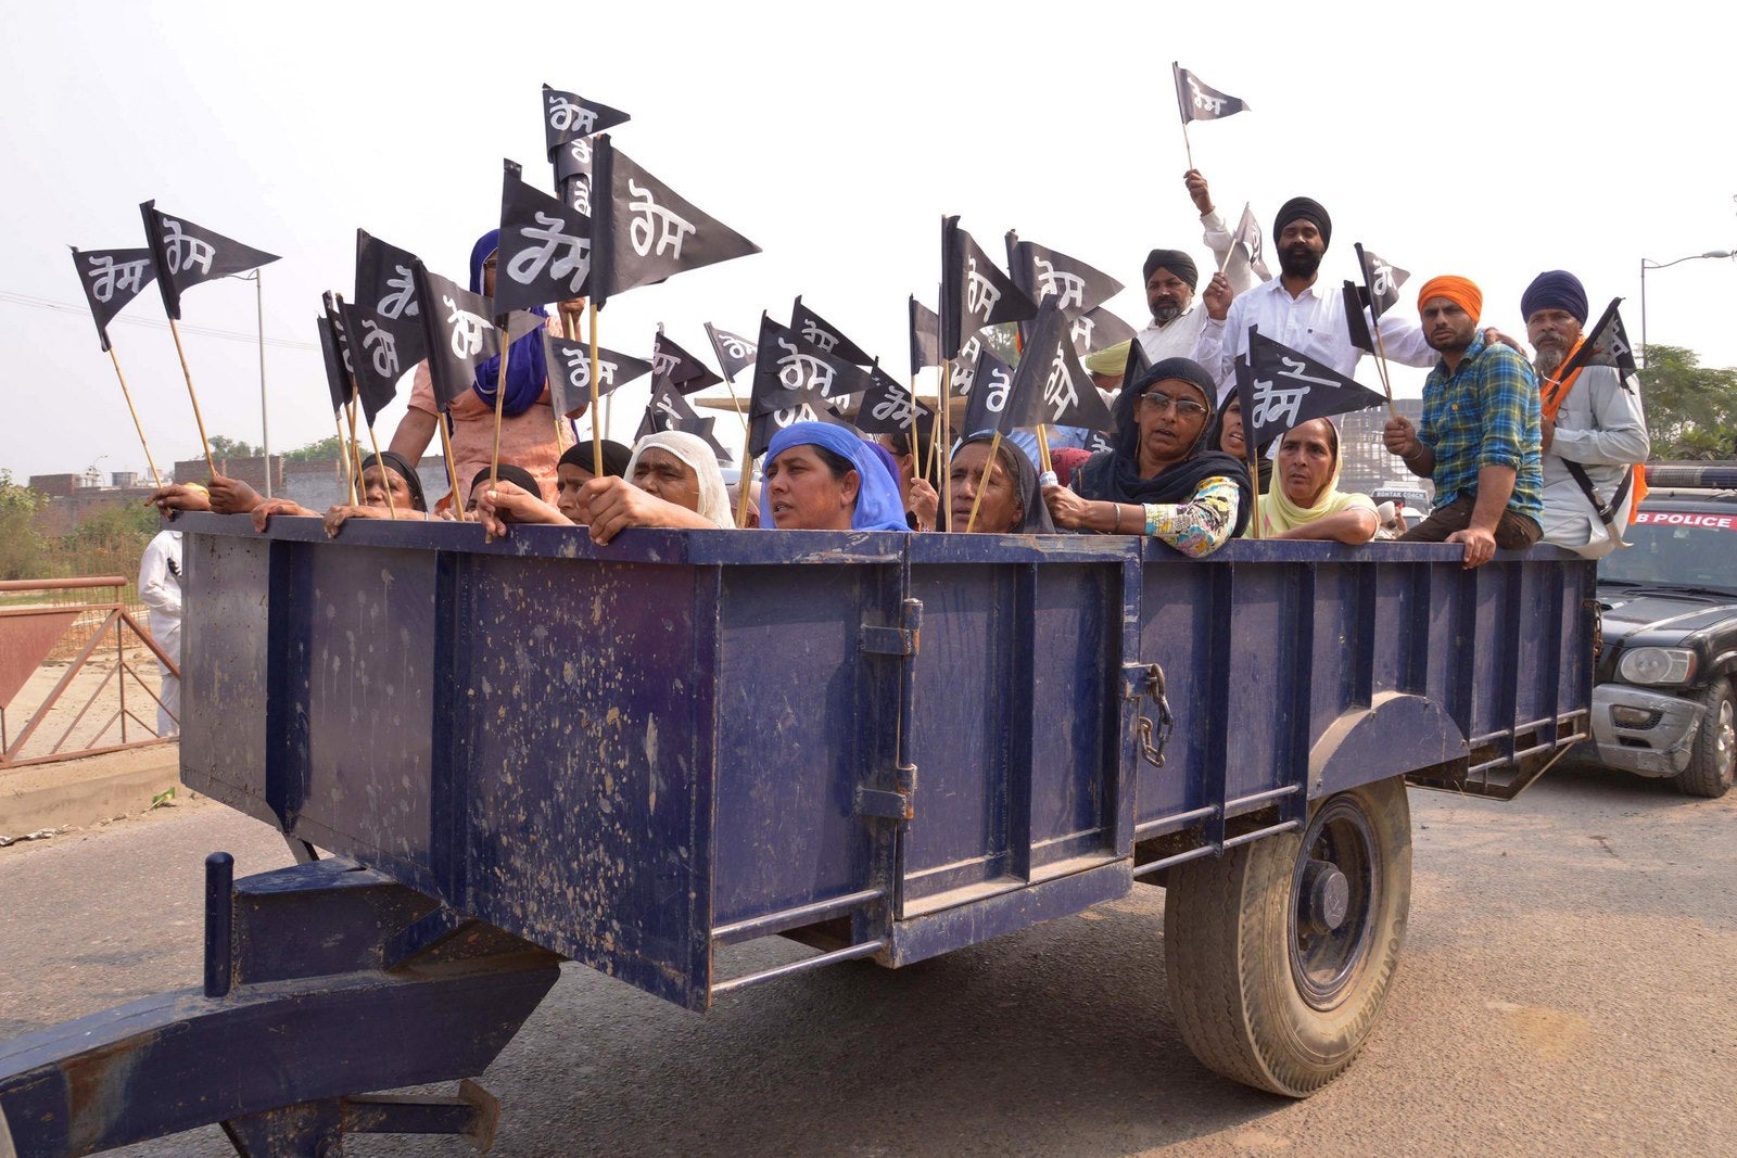
[[(471, 248), (471, 292), (495, 295), (495, 250), (500, 231), (490, 229)], [(563, 302), (566, 311), (570, 304)], [(542, 309), (535, 311), (545, 316)], [(554, 325), (547, 321), (545, 325)], [(488, 467), (495, 444), (495, 384), (500, 378), (500, 356), (476, 368), (471, 389), (453, 399), (452, 457), (459, 479), (469, 479)], [(516, 462), (530, 470), (544, 493), (559, 486), (556, 464), (561, 450), (571, 443), (556, 443), (554, 410), (549, 405), (547, 370), (544, 365), (542, 330), (532, 330), (507, 351), (507, 380), (500, 401), (500, 460)], [(393, 434), (391, 450), (417, 462), (434, 438), (439, 422), (439, 405), (434, 401), (434, 382), (427, 363), (417, 366), (415, 385), (410, 391), (410, 408)], [(566, 424), (563, 424), (565, 427)], [(459, 495), (462, 507), (467, 495)]]

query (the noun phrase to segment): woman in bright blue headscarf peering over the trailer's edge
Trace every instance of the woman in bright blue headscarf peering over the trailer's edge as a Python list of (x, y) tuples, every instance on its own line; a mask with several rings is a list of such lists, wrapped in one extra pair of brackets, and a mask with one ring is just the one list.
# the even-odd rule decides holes
[(898, 479), (868, 443), (829, 422), (792, 422), (771, 438), (761, 526), (782, 531), (908, 531)]

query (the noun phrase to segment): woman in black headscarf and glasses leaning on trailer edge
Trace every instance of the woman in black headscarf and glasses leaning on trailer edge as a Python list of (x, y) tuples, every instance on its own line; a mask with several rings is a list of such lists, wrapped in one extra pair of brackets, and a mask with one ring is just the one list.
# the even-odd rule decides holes
[(1188, 358), (1166, 358), (1115, 399), (1115, 450), (1093, 455), (1073, 486), (1049, 484), (1044, 502), (1063, 530), (1152, 535), (1207, 556), (1249, 521), (1249, 470), (1207, 450), (1216, 387)]

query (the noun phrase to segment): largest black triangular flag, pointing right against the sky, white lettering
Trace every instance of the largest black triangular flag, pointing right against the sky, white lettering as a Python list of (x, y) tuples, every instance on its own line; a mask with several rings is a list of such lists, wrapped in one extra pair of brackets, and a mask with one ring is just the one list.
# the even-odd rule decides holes
[(598, 137), (592, 165), (591, 295), (599, 307), (634, 286), (761, 252), (618, 153), (608, 134)]

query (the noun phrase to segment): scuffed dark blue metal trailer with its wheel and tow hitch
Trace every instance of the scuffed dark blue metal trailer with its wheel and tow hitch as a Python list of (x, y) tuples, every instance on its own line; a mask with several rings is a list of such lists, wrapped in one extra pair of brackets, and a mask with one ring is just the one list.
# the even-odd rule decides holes
[[(1398, 960), (1405, 781), (1536, 780), (1598, 630), (1595, 566), (1548, 547), (177, 524), (182, 780), (306, 863), (212, 858), (201, 990), (0, 1043), (19, 1155), (486, 1144), (472, 1082), (368, 1092), (481, 1073), (563, 960), (703, 1010), (1136, 882), (1183, 1038), (1301, 1097)], [(813, 953), (719, 976), (766, 936)]]

